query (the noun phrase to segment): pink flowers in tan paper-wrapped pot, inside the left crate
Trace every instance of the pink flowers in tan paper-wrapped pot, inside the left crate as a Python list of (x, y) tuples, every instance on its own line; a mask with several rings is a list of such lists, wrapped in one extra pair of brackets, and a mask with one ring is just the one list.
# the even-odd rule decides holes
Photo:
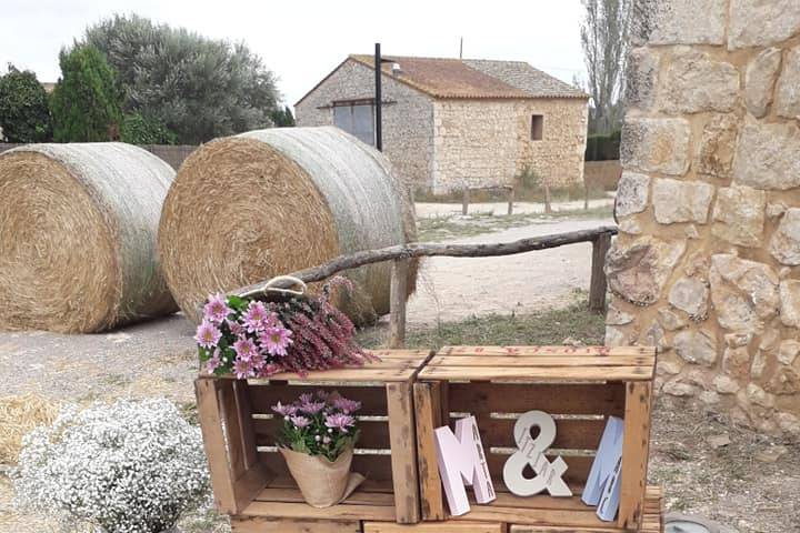
[(359, 436), (353, 413), (359, 409), (360, 402), (324, 391), (272, 406), (283, 416), (278, 449), (303, 497), (314, 507), (336, 505), (363, 481), (360, 474), (350, 474)]

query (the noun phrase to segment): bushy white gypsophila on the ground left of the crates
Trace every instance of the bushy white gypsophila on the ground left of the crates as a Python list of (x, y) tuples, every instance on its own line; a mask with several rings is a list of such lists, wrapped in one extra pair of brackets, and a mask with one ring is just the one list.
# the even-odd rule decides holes
[(209, 491), (200, 431), (166, 399), (62, 409), (22, 441), (17, 503), (64, 529), (161, 533)]

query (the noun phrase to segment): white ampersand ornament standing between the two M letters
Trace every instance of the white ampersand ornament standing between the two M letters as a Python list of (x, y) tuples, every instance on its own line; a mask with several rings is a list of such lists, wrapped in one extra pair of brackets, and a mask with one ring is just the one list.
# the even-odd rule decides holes
[[(536, 439), (531, 438), (531, 428), (539, 428)], [(551, 496), (571, 496), (572, 491), (561, 476), (567, 472), (564, 460), (556, 457), (551, 463), (544, 451), (556, 440), (556, 421), (543, 411), (528, 411), (514, 424), (514, 441), (518, 450), (506, 461), (503, 481), (506, 486), (518, 496), (532, 496), (543, 490)], [(530, 464), (536, 476), (528, 479), (522, 475), (526, 465)]]

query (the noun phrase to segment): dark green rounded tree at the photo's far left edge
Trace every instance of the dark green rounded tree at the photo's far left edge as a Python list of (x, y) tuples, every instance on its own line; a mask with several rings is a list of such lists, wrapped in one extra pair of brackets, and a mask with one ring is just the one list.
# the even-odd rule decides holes
[(47, 142), (52, 139), (48, 97), (33, 72), (8, 66), (0, 77), (0, 128), (9, 142)]

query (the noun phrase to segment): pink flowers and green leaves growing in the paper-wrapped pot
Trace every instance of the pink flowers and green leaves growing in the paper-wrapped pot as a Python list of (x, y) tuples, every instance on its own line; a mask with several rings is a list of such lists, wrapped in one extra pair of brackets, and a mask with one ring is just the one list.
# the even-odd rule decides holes
[(356, 445), (359, 430), (353, 413), (359, 409), (360, 402), (324, 391), (303, 394), (290, 404), (278, 402), (272, 406), (283, 418), (278, 445), (336, 461)]

